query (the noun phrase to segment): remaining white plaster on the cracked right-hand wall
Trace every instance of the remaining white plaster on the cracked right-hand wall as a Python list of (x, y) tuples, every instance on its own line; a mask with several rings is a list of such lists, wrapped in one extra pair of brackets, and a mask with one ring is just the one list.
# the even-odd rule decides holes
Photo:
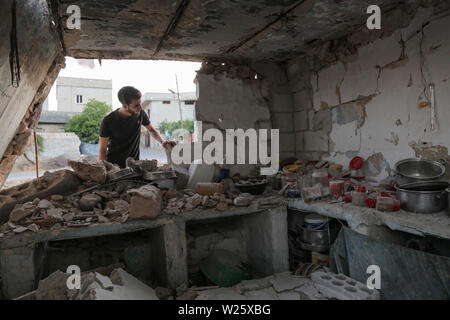
[[(348, 164), (356, 154), (367, 158), (382, 152), (392, 167), (401, 159), (415, 157), (410, 142), (450, 148), (450, 17), (436, 19), (431, 14), (432, 9), (420, 9), (409, 27), (360, 48), (345, 64), (339, 62), (320, 71), (318, 82), (316, 76), (311, 77), (314, 109), (332, 108), (330, 160)], [(435, 131), (430, 130), (430, 108), (418, 107), (424, 84), (420, 71), (421, 35), (417, 31), (432, 19), (435, 20), (424, 28), (422, 48), (423, 73), (428, 83), (435, 84), (439, 121)], [(407, 60), (389, 65), (400, 57), (401, 38), (406, 40)], [(384, 66), (378, 85), (377, 65)], [(374, 96), (365, 106), (366, 117), (361, 128), (356, 120), (342, 123), (341, 119), (338, 123), (337, 105), (370, 95)]]

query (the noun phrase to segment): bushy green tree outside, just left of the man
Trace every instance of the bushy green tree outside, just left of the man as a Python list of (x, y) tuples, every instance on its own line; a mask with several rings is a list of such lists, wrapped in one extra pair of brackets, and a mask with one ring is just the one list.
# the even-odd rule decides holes
[(66, 132), (74, 132), (84, 143), (98, 143), (98, 131), (103, 118), (112, 110), (103, 101), (91, 99), (81, 114), (75, 115), (65, 126)]

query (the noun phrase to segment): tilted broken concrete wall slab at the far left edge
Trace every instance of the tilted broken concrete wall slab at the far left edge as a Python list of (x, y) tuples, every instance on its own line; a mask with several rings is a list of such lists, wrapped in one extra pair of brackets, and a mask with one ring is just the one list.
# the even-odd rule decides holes
[(9, 62), (12, 0), (0, 12), (0, 187), (14, 162), (31, 142), (42, 102), (56, 79), (64, 57), (45, 0), (17, 1), (17, 44), (21, 78), (11, 85)]

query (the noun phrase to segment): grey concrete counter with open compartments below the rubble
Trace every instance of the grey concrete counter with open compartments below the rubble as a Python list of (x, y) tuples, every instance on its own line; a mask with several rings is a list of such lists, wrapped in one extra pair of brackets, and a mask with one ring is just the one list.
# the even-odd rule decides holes
[[(186, 227), (192, 223), (214, 224), (240, 217), (242, 219), (235, 221), (242, 223), (241, 229), (251, 253), (250, 262), (256, 265), (255, 268), (263, 275), (287, 271), (286, 206), (232, 207), (226, 211), (195, 210), (152, 220), (93, 224), (37, 233), (27, 231), (4, 237), (0, 239), (1, 292), (7, 299), (30, 292), (36, 289), (40, 279), (56, 269), (64, 269), (66, 264), (82, 264), (85, 266), (82, 271), (100, 267), (102, 259), (97, 256), (103, 254), (103, 249), (112, 251), (114, 256), (110, 259), (125, 257), (127, 263), (143, 273), (142, 277), (153, 277), (160, 286), (176, 288), (188, 281)], [(131, 244), (127, 246), (126, 241)], [(96, 247), (97, 242), (102, 246)], [(53, 255), (50, 259), (46, 248), (52, 246), (60, 249), (50, 253)], [(95, 257), (95, 263), (87, 261), (88, 256)]]

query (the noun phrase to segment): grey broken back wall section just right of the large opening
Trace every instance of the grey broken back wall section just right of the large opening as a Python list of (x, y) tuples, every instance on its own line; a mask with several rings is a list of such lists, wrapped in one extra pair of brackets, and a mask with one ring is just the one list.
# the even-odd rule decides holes
[[(295, 156), (293, 100), (282, 65), (208, 61), (203, 63), (196, 82), (196, 120), (202, 121), (203, 131), (279, 129), (280, 158)], [(270, 150), (270, 133), (267, 144)], [(236, 153), (235, 150), (235, 156)], [(253, 168), (236, 165), (232, 166), (231, 173), (248, 174)]]

